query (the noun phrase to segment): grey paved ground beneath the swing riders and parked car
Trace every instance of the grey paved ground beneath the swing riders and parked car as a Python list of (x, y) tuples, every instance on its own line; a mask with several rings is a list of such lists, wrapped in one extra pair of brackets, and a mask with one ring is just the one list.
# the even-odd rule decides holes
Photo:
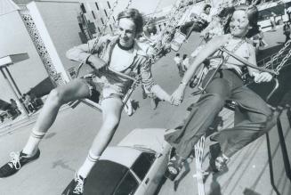
[[(268, 44), (284, 41), (283, 34), (277, 32), (274, 35), (277, 37), (272, 34), (270, 38), (268, 37)], [(198, 35), (193, 34), (179, 53), (190, 54), (191, 48), (195, 48), (199, 44), (199, 40)], [(174, 88), (179, 85), (181, 79), (173, 61), (174, 54), (169, 53), (153, 67), (154, 78), (168, 93), (174, 92)], [(122, 114), (120, 125), (109, 145), (116, 145), (134, 128), (179, 126), (187, 116), (186, 108), (198, 99), (197, 96), (193, 97), (190, 94), (192, 91), (187, 91), (185, 100), (179, 107), (160, 102), (157, 110), (152, 110), (150, 99), (142, 99), (141, 87), (139, 87), (132, 97), (139, 108), (132, 117), (128, 117), (125, 113)], [(222, 110), (221, 116), (224, 126), (233, 124), (233, 113), (230, 110)], [(281, 121), (287, 151), (290, 153), (291, 134), (286, 112), (282, 114)], [(33, 122), (16, 129), (12, 127), (11, 131), (0, 135), (0, 165), (9, 160), (9, 152), (22, 149), (32, 126)], [(100, 126), (101, 113), (84, 104), (79, 104), (75, 109), (62, 110), (40, 144), (41, 157), (21, 168), (20, 173), (0, 180), (0, 195), (61, 194), (72, 179), (75, 170), (83, 163)], [(266, 136), (262, 136), (231, 158), (225, 172), (206, 176), (206, 194), (290, 195), (290, 179), (287, 178), (285, 172), (276, 127), (271, 130), (270, 138), (273, 175), (270, 175)], [(210, 142), (206, 140), (204, 169), (208, 166), (209, 144)], [(158, 195), (198, 194), (197, 181), (192, 176), (196, 172), (195, 159), (189, 158), (187, 162), (186, 168), (182, 170), (182, 175), (179, 175), (175, 182), (166, 180), (165, 183), (161, 183), (161, 188), (157, 191)], [(271, 186), (271, 179), (278, 192)]]

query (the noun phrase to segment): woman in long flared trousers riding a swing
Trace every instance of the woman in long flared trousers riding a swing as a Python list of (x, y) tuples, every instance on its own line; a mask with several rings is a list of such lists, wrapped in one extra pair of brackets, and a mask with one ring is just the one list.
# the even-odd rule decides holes
[[(225, 46), (230, 52), (237, 54), (252, 64), (256, 64), (255, 48), (247, 43), (246, 38), (256, 33), (258, 11), (255, 6), (241, 4), (232, 9), (231, 17), (225, 26), (225, 35), (214, 37), (200, 51), (196, 59), (186, 71), (178, 88), (172, 95), (172, 102), (181, 103), (183, 94), (190, 78), (200, 64), (209, 56), (217, 56), (210, 60), (211, 69), (202, 85), (205, 86), (214, 69), (222, 61), (219, 48)], [(168, 173), (174, 179), (182, 168), (183, 161), (190, 156), (194, 145), (205, 134), (215, 116), (222, 110), (226, 100), (238, 103), (240, 110), (247, 114), (247, 119), (230, 129), (224, 129), (211, 137), (212, 141), (220, 143), (221, 153), (214, 162), (214, 171), (221, 171), (229, 158), (249, 142), (255, 141), (260, 135), (269, 130), (266, 126), (267, 118), (271, 117), (271, 110), (266, 102), (256, 93), (244, 85), (241, 79), (242, 62), (223, 53), (226, 61), (206, 86), (204, 94), (194, 104), (190, 116), (181, 130), (166, 134), (166, 141), (175, 149), (175, 155), (168, 164)], [(271, 81), (271, 74), (260, 72), (247, 67), (250, 76), (255, 77), (256, 83)], [(216, 169), (216, 170), (215, 170)]]

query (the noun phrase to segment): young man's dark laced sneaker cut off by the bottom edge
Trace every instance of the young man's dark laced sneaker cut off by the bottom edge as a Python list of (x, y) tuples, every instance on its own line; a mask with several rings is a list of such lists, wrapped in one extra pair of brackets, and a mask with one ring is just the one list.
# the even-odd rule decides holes
[(69, 183), (61, 195), (82, 195), (84, 191), (85, 178), (81, 175), (75, 175), (75, 178)]

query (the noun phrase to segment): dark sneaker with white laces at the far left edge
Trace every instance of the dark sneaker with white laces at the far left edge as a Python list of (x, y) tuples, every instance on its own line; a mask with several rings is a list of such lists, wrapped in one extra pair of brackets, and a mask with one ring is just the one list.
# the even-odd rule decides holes
[(12, 160), (6, 163), (3, 167), (0, 167), (0, 178), (4, 178), (15, 174), (20, 170), (21, 167), (28, 164), (37, 158), (39, 158), (40, 150), (37, 149), (36, 154), (32, 157), (28, 157), (27, 154), (20, 152), (11, 152), (10, 157)]

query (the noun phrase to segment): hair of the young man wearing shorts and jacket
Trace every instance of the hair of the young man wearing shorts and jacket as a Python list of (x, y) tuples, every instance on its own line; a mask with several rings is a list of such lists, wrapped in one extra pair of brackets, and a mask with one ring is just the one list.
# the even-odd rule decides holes
[(137, 9), (127, 9), (123, 12), (119, 12), (117, 15), (117, 20), (120, 19), (130, 19), (133, 20), (133, 23), (135, 24), (135, 32), (136, 34), (140, 34), (142, 32), (143, 28), (143, 18), (141, 13)]

